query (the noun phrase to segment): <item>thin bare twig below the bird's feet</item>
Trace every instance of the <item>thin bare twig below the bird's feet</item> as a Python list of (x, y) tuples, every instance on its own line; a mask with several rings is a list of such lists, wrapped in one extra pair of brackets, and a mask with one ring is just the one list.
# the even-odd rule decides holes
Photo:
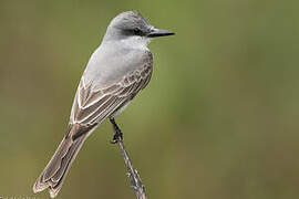
[(134, 190), (137, 199), (146, 199), (145, 187), (142, 184), (142, 180), (141, 180), (140, 175), (137, 174), (137, 170), (135, 170), (133, 168), (133, 165), (132, 165), (132, 163), (130, 160), (127, 151), (125, 150), (122, 137), (118, 136), (116, 140), (117, 140), (116, 144), (118, 145), (118, 147), (120, 147), (120, 149), (122, 151), (123, 158), (124, 158), (124, 163), (125, 163), (125, 166), (126, 166), (126, 169), (127, 169), (127, 175), (128, 175), (128, 178), (130, 178), (132, 189)]

